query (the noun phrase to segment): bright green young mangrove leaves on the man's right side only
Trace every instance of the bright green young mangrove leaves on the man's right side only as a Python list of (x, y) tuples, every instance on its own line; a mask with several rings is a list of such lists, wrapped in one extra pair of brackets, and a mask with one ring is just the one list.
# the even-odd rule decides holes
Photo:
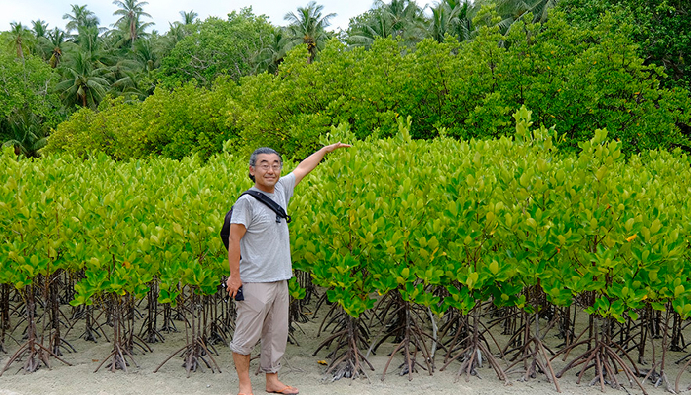
[(621, 321), (647, 304), (691, 313), (688, 157), (625, 160), (598, 129), (560, 158), (554, 129), (515, 119), (515, 140), (460, 143), (411, 140), (400, 121), (320, 168), (294, 203), (296, 266), (354, 316), (393, 290), (437, 312), (488, 299), (534, 312), (532, 286), (560, 306), (594, 291), (588, 311)]

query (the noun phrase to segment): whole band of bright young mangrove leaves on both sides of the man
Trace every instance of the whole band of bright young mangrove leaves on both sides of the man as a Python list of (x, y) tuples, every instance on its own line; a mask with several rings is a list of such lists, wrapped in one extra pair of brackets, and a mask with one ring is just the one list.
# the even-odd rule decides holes
[[(354, 318), (380, 296), (437, 317), (484, 302), (631, 325), (691, 315), (688, 156), (626, 158), (602, 129), (560, 154), (554, 128), (524, 107), (514, 118), (514, 138), (469, 141), (414, 140), (397, 118), (395, 135), (332, 154), (292, 199), (294, 267)], [(341, 125), (329, 138), (354, 135)], [(217, 292), (218, 228), (249, 185), (245, 158), (0, 160), (0, 284), (70, 273), (73, 306)]]

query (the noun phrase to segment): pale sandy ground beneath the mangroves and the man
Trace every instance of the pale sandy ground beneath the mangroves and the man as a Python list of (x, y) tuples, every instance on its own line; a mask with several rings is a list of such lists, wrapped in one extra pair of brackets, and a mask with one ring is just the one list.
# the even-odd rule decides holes
[[(399, 376), (398, 369), (395, 369), (403, 361), (402, 357), (399, 356), (392, 362), (386, 378), (381, 380), (381, 372), (384, 370), (384, 365), (388, 359), (386, 354), (392, 351), (392, 345), (387, 343), (380, 347), (377, 356), (370, 358), (375, 371), (369, 373), (369, 378), (361, 377), (355, 380), (342, 378), (334, 382), (323, 380), (325, 367), (319, 365), (317, 361), (325, 357), (325, 352), (321, 352), (321, 355), (312, 356), (316, 345), (319, 345), (323, 338), (323, 336), (321, 338), (316, 337), (318, 327), (318, 322), (301, 324), (302, 331), (296, 332), (296, 338), (301, 345), (288, 345), (284, 358), (280, 377), (285, 383), (299, 387), (301, 394), (557, 394), (554, 385), (547, 382), (544, 376), (525, 382), (518, 381), (517, 376), (513, 376), (508, 383), (503, 383), (487, 364), (479, 369), (482, 378), (471, 376), (469, 381), (466, 381), (465, 376), (462, 378), (457, 376), (456, 372), (460, 367), (460, 363), (457, 362), (454, 362), (445, 371), (435, 371), (433, 376), (430, 376), (426, 371), (420, 371), (413, 375), (413, 380), (409, 381), (408, 376)], [(153, 353), (140, 352), (136, 354), (135, 358), (139, 367), (131, 366), (128, 373), (124, 371), (113, 373), (104, 367), (94, 373), (93, 371), (100, 364), (100, 360), (93, 358), (108, 356), (111, 351), (110, 343), (101, 341), (94, 344), (93, 342), (84, 342), (84, 340), (74, 340), (73, 345), (78, 352), (65, 353), (63, 356), (73, 366), (62, 365), (61, 362), (53, 359), (51, 360), (51, 369), (42, 367), (35, 373), (21, 374), (21, 372), (17, 373), (19, 365), (12, 365), (12, 368), (0, 377), (0, 395), (236, 394), (238, 379), (231, 365), (231, 353), (223, 345), (217, 346), (220, 355), (215, 356), (218, 365), (220, 365), (221, 373), (214, 374), (208, 370), (196, 371), (189, 378), (186, 378), (182, 360), (178, 356), (167, 362), (160, 371), (153, 373), (153, 370), (167, 356), (184, 345), (183, 339), (184, 333), (168, 334), (165, 342), (151, 345), (154, 349)], [(672, 362), (680, 358), (681, 355), (683, 354), (670, 353), (668, 357), (672, 382), (680, 368)], [(0, 366), (4, 366), (9, 357), (7, 354), (1, 354)], [(442, 356), (437, 356), (436, 360), (437, 367), (440, 367)], [(253, 370), (257, 362), (258, 360), (252, 361)], [(562, 367), (563, 363), (560, 360), (555, 362), (557, 368)], [(575, 371), (567, 373), (559, 380), (562, 394), (601, 394), (599, 385), (592, 387), (588, 385), (592, 377), (592, 373), (587, 372), (583, 382), (578, 385), (576, 384)], [(620, 380), (624, 380), (624, 378), (620, 377)], [(252, 383), (254, 394), (265, 393), (263, 376), (253, 376)], [(691, 374), (688, 372), (683, 374), (681, 383), (680, 387), (686, 387), (691, 383)], [(645, 389), (651, 395), (668, 393), (663, 388), (656, 388), (650, 383), (645, 383)], [(609, 394), (643, 393), (638, 387), (613, 389), (609, 386), (605, 387), (605, 392)]]

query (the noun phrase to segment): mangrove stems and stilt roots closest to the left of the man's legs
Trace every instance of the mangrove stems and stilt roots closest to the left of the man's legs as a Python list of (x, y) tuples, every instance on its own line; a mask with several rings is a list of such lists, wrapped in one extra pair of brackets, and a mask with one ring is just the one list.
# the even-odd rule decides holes
[[(204, 366), (211, 369), (211, 373), (221, 372), (216, 360), (214, 360), (214, 356), (211, 355), (211, 351), (207, 347), (205, 328), (207, 327), (208, 316), (205, 313), (203, 304), (205, 298), (207, 297), (198, 295), (194, 291), (189, 293), (184, 306), (180, 309), (184, 315), (184, 321), (189, 323), (189, 325), (185, 326), (184, 331), (185, 345), (171, 353), (168, 358), (154, 369), (153, 373), (156, 373), (166, 362), (178, 354), (182, 357), (182, 367), (187, 371), (187, 377), (189, 377), (192, 371), (197, 371), (197, 369), (202, 369), (203, 371)], [(210, 363), (207, 358), (211, 361)]]

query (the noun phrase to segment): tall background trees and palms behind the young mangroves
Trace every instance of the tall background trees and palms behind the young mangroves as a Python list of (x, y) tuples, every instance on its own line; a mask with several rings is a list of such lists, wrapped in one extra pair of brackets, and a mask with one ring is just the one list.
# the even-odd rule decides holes
[[(126, 146), (124, 136), (131, 135), (143, 142), (131, 145), (144, 147), (117, 155), (108, 148), (113, 158), (208, 156), (230, 137), (211, 134), (232, 129), (236, 149), (272, 145), (303, 157), (331, 125), (348, 123), (359, 138), (390, 136), (397, 114), (413, 117), (414, 138), (501, 136), (511, 133), (509, 114), (522, 104), (535, 111), (536, 122), (560, 125), (565, 140), (558, 144), (571, 149), (598, 127), (620, 139), (626, 154), (689, 145), (688, 10), (679, 1), (639, 7), (609, 0), (445, 0), (431, 7), (431, 16), (408, 0), (378, 1), (339, 35), (327, 30), (332, 15), (314, 2), (288, 13), (286, 27), (272, 26), (251, 8), (205, 21), (191, 11), (181, 12), (182, 21), (165, 34), (149, 33), (145, 3), (115, 6), (120, 19), (111, 30), (100, 27), (86, 6), (73, 6), (64, 15), (66, 31), (37, 20), (31, 30), (13, 24), (3, 32), (2, 64), (12, 68), (12, 78), (18, 75), (12, 57), (26, 65), (42, 58), (55, 69), (39, 92), (27, 88), (34, 82), (8, 84), (6, 93), (15, 99), (3, 109), (3, 141), (21, 140), (10, 127), (17, 122), (8, 118), (18, 108), (28, 111), (23, 118), (38, 120), (41, 127), (33, 129), (46, 132), (64, 119), (59, 114), (79, 107), (97, 113), (104, 100), (109, 109), (135, 102), (137, 113), (137, 105), (146, 105), (136, 102), (159, 95), (155, 101), (171, 108), (158, 113), (180, 113), (161, 100), (191, 82), (200, 89), (189, 90), (194, 98), (207, 90), (227, 95), (225, 103), (212, 101), (193, 116), (198, 125), (211, 126), (192, 133), (180, 127), (175, 136), (170, 126), (153, 130), (133, 122), (131, 131), (103, 131), (121, 136), (103, 147)], [(329, 37), (337, 38), (327, 44)], [(34, 80), (45, 80), (39, 74), (31, 72)], [(108, 96), (124, 101), (113, 104)], [(82, 155), (101, 149), (86, 143), (90, 138), (64, 143), (68, 133), (95, 129), (88, 125), (94, 116), (75, 117), (84, 127), (61, 127), (50, 150)], [(164, 148), (167, 142), (173, 146)]]

